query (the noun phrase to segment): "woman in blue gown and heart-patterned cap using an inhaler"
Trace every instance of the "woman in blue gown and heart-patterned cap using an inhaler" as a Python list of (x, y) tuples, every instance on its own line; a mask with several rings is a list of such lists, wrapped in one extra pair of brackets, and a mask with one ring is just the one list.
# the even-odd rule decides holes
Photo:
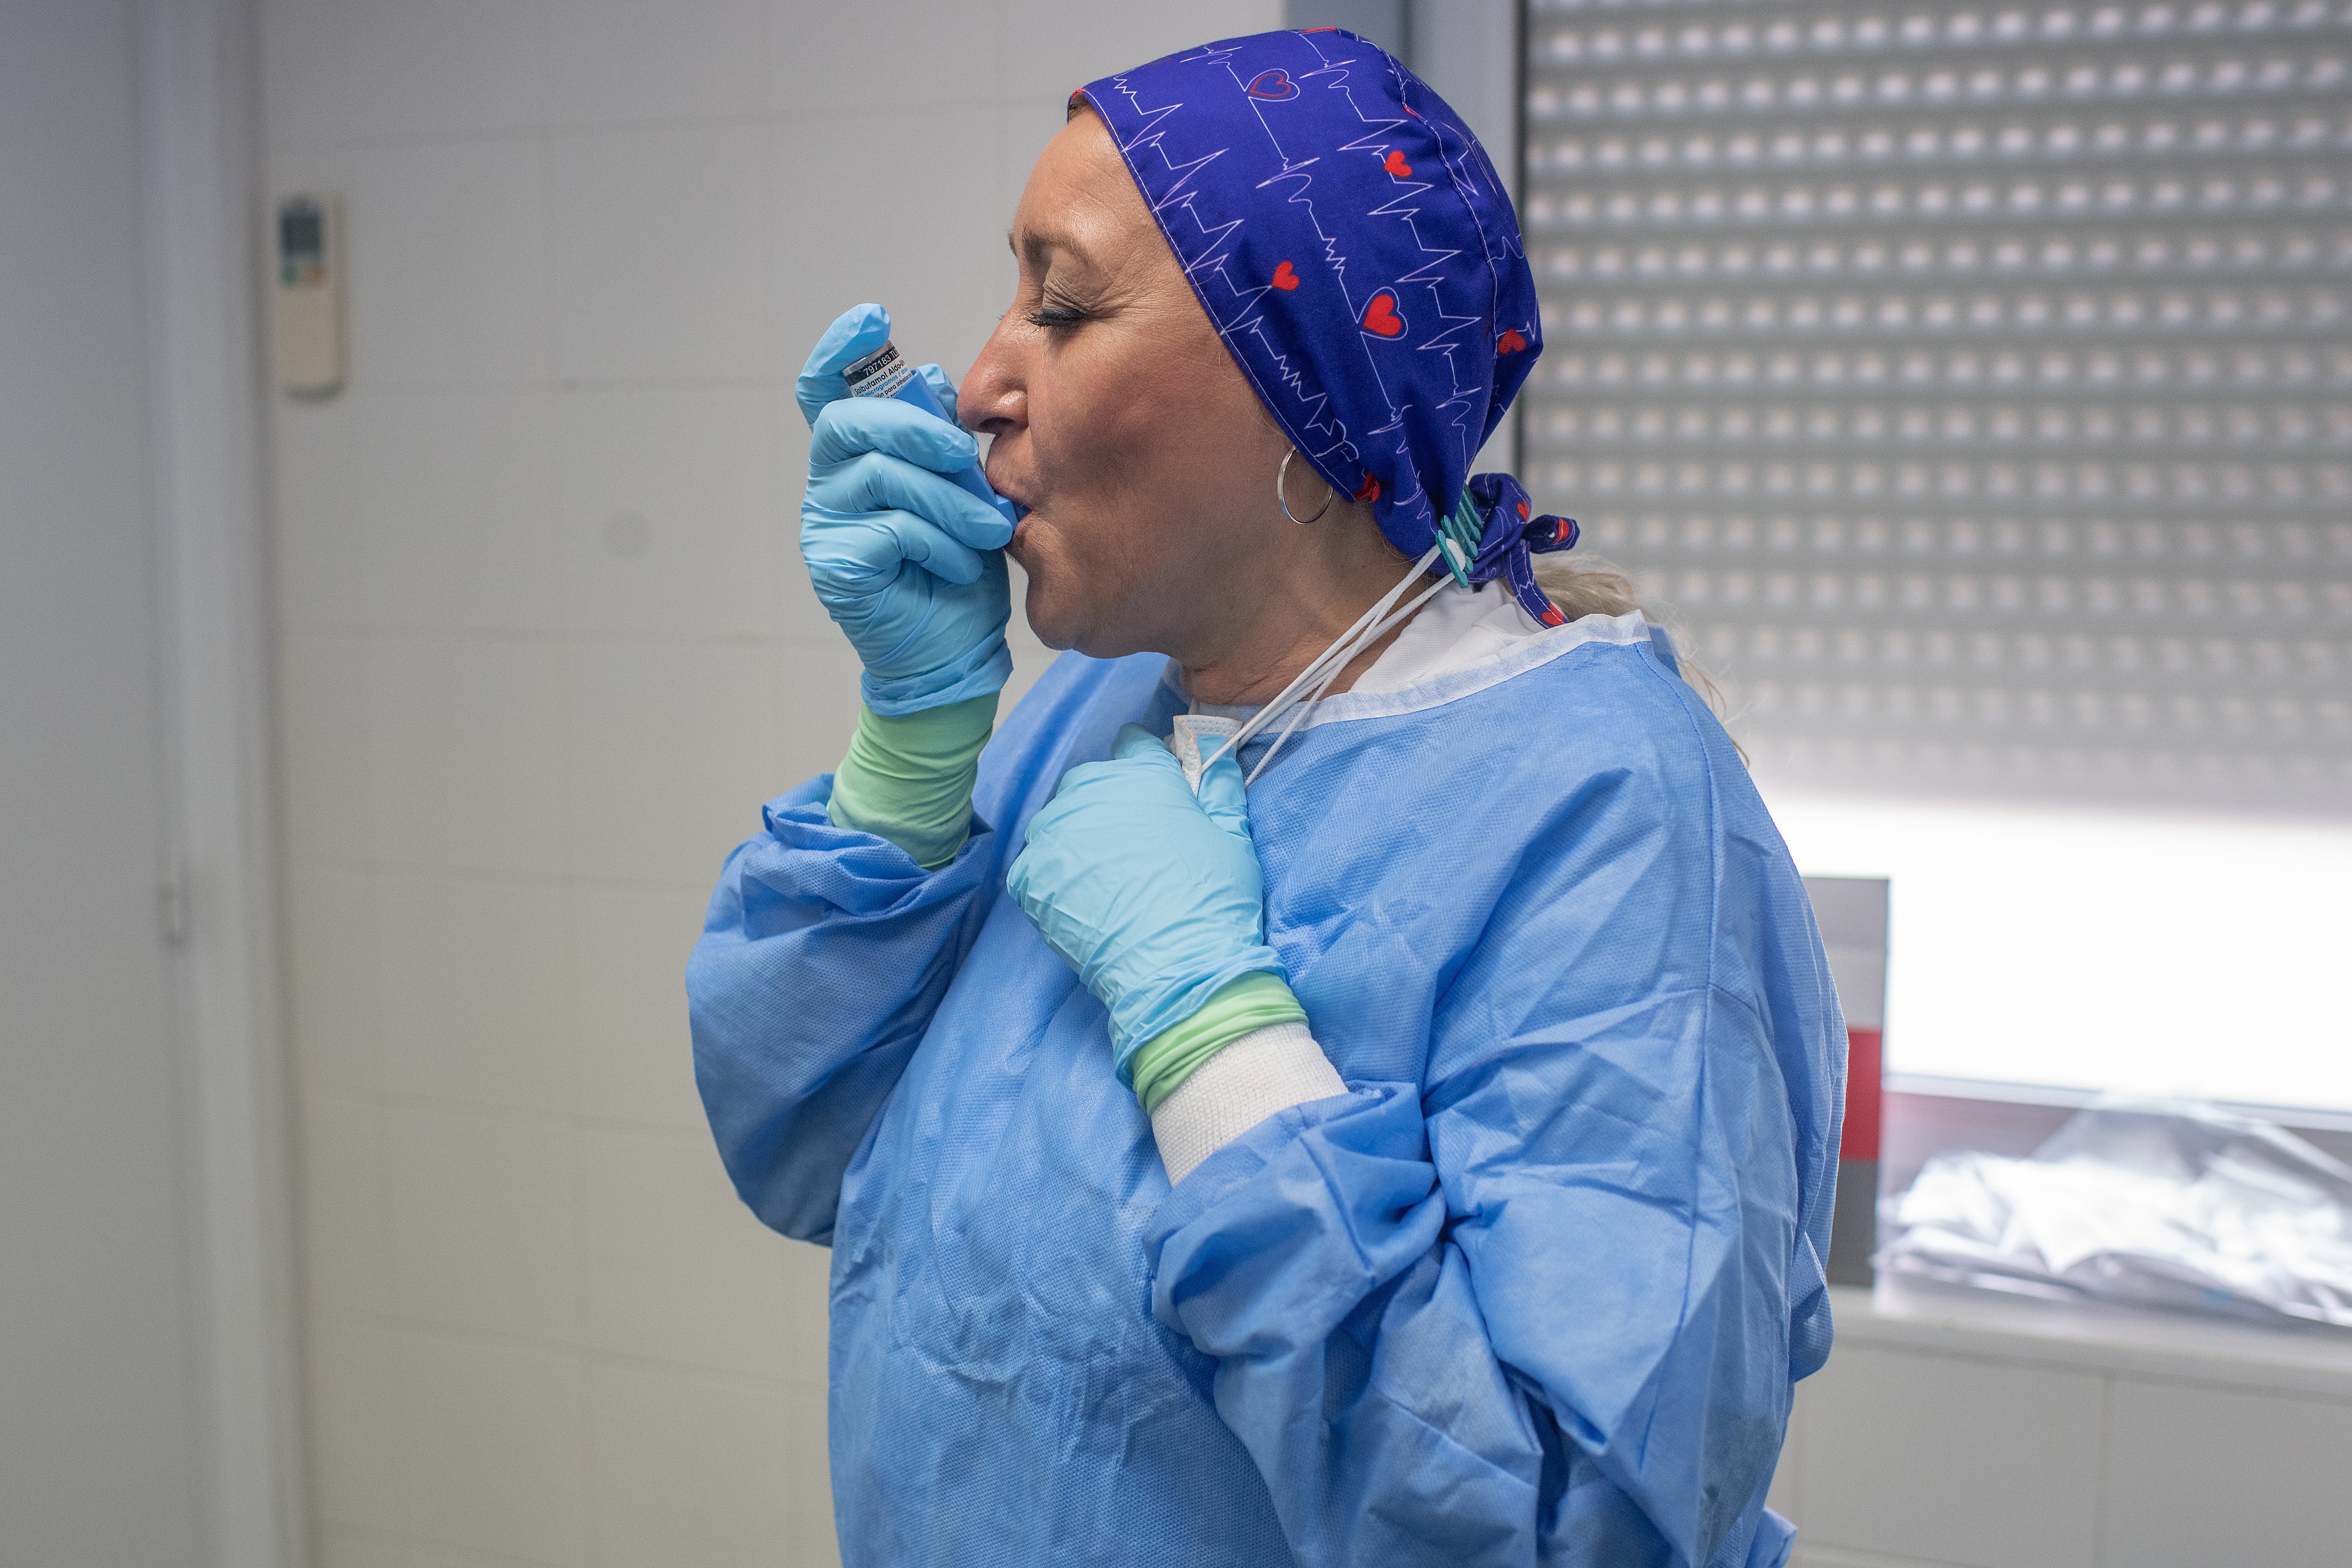
[(1844, 1030), (1672, 644), (1468, 473), (1541, 353), (1484, 153), (1237, 38), (1073, 94), (1011, 242), (962, 428), (849, 395), (877, 308), (800, 381), (863, 712), (687, 973), (833, 1248), (844, 1561), (1785, 1561)]

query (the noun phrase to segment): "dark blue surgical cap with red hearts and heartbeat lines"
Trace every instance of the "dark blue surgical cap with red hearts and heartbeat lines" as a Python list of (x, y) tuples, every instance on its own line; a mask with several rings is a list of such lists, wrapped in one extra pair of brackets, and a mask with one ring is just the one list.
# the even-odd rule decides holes
[[(1543, 353), (1519, 219), (1428, 82), (1341, 28), (1254, 33), (1087, 82), (1202, 310), (1334, 491), (1557, 623), (1531, 550), (1576, 543), (1470, 458)], [(1475, 545), (1472, 545), (1475, 541)]]

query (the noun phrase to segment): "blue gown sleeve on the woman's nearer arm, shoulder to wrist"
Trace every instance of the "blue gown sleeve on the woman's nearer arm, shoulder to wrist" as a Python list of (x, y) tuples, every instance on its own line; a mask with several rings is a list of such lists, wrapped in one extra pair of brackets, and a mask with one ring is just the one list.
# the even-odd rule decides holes
[(1301, 1563), (1785, 1559), (1842, 1025), (1762, 804), (1722, 816), (1705, 778), (1588, 778), (1439, 992), (1425, 1081), (1284, 1110), (1155, 1215), (1152, 1312)]

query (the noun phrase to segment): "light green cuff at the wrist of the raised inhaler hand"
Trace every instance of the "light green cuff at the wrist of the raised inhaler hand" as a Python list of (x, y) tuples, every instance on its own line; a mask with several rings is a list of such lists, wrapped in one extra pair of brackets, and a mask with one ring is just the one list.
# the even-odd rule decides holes
[(995, 724), (995, 691), (898, 717), (861, 703), (826, 816), (835, 827), (889, 839), (927, 872), (938, 870), (971, 837), (971, 780)]

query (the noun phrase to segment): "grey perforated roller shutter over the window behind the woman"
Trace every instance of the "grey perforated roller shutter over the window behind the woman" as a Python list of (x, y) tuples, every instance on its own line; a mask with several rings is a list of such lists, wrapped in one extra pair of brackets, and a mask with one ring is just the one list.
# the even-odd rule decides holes
[(2352, 813), (2352, 2), (1526, 38), (1522, 465), (1759, 766)]

